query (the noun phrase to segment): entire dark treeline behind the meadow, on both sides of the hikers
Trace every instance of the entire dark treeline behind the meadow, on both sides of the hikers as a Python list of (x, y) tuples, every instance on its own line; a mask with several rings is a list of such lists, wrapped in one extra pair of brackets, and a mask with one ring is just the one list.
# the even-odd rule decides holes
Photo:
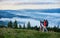
[[(31, 30), (40, 31), (40, 27), (37, 27), (37, 25), (32, 27), (30, 22), (28, 22), (27, 25), (23, 24), (23, 27), (22, 27), (22, 25), (19, 25), (19, 27), (18, 27), (18, 23), (16, 20), (14, 22), (9, 21), (6, 26), (4, 24), (2, 24), (2, 25), (0, 25), (0, 28), (31, 29)], [(47, 27), (47, 29), (48, 29), (48, 31), (60, 32), (59, 25), (57, 25), (57, 27), (54, 26), (53, 28)]]

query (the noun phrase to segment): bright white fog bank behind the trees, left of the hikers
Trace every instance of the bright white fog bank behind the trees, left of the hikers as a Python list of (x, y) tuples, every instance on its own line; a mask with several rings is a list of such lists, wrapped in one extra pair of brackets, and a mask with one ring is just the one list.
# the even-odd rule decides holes
[(23, 18), (17, 18), (17, 17), (14, 17), (14, 18), (1, 18), (0, 21), (12, 21), (14, 22), (15, 20), (17, 20), (18, 22), (24, 22), (26, 25), (28, 23), (28, 21), (30, 21), (31, 25), (32, 26), (35, 26), (35, 25), (38, 25), (39, 26), (39, 21), (37, 20), (33, 20), (33, 19), (23, 19)]

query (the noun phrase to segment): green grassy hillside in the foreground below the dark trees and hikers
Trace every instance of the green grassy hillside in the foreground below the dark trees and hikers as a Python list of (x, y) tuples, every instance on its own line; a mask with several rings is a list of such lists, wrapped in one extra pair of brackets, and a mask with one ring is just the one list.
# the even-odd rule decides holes
[(27, 29), (0, 28), (0, 38), (60, 38), (60, 33)]

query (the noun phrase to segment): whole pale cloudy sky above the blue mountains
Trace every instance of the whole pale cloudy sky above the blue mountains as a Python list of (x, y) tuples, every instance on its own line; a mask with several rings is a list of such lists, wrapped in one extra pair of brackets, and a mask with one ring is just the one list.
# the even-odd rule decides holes
[(0, 9), (60, 8), (60, 0), (0, 0)]

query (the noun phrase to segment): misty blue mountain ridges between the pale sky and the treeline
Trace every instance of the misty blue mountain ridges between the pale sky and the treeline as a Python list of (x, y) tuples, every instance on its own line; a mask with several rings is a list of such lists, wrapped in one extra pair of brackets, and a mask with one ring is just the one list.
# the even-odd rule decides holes
[[(49, 24), (59, 24), (60, 22), (60, 8), (57, 9), (22, 9), (22, 10), (0, 10), (0, 22), (4, 23), (8, 20), (19, 20), (18, 23), (25, 23), (25, 21), (40, 21), (47, 19)], [(17, 17), (17, 18), (15, 18)], [(7, 20), (8, 19), (8, 20)], [(30, 20), (31, 19), (31, 20)], [(54, 20), (53, 20), (54, 19)], [(21, 22), (20, 22), (21, 20)], [(23, 21), (24, 20), (24, 21)]]

